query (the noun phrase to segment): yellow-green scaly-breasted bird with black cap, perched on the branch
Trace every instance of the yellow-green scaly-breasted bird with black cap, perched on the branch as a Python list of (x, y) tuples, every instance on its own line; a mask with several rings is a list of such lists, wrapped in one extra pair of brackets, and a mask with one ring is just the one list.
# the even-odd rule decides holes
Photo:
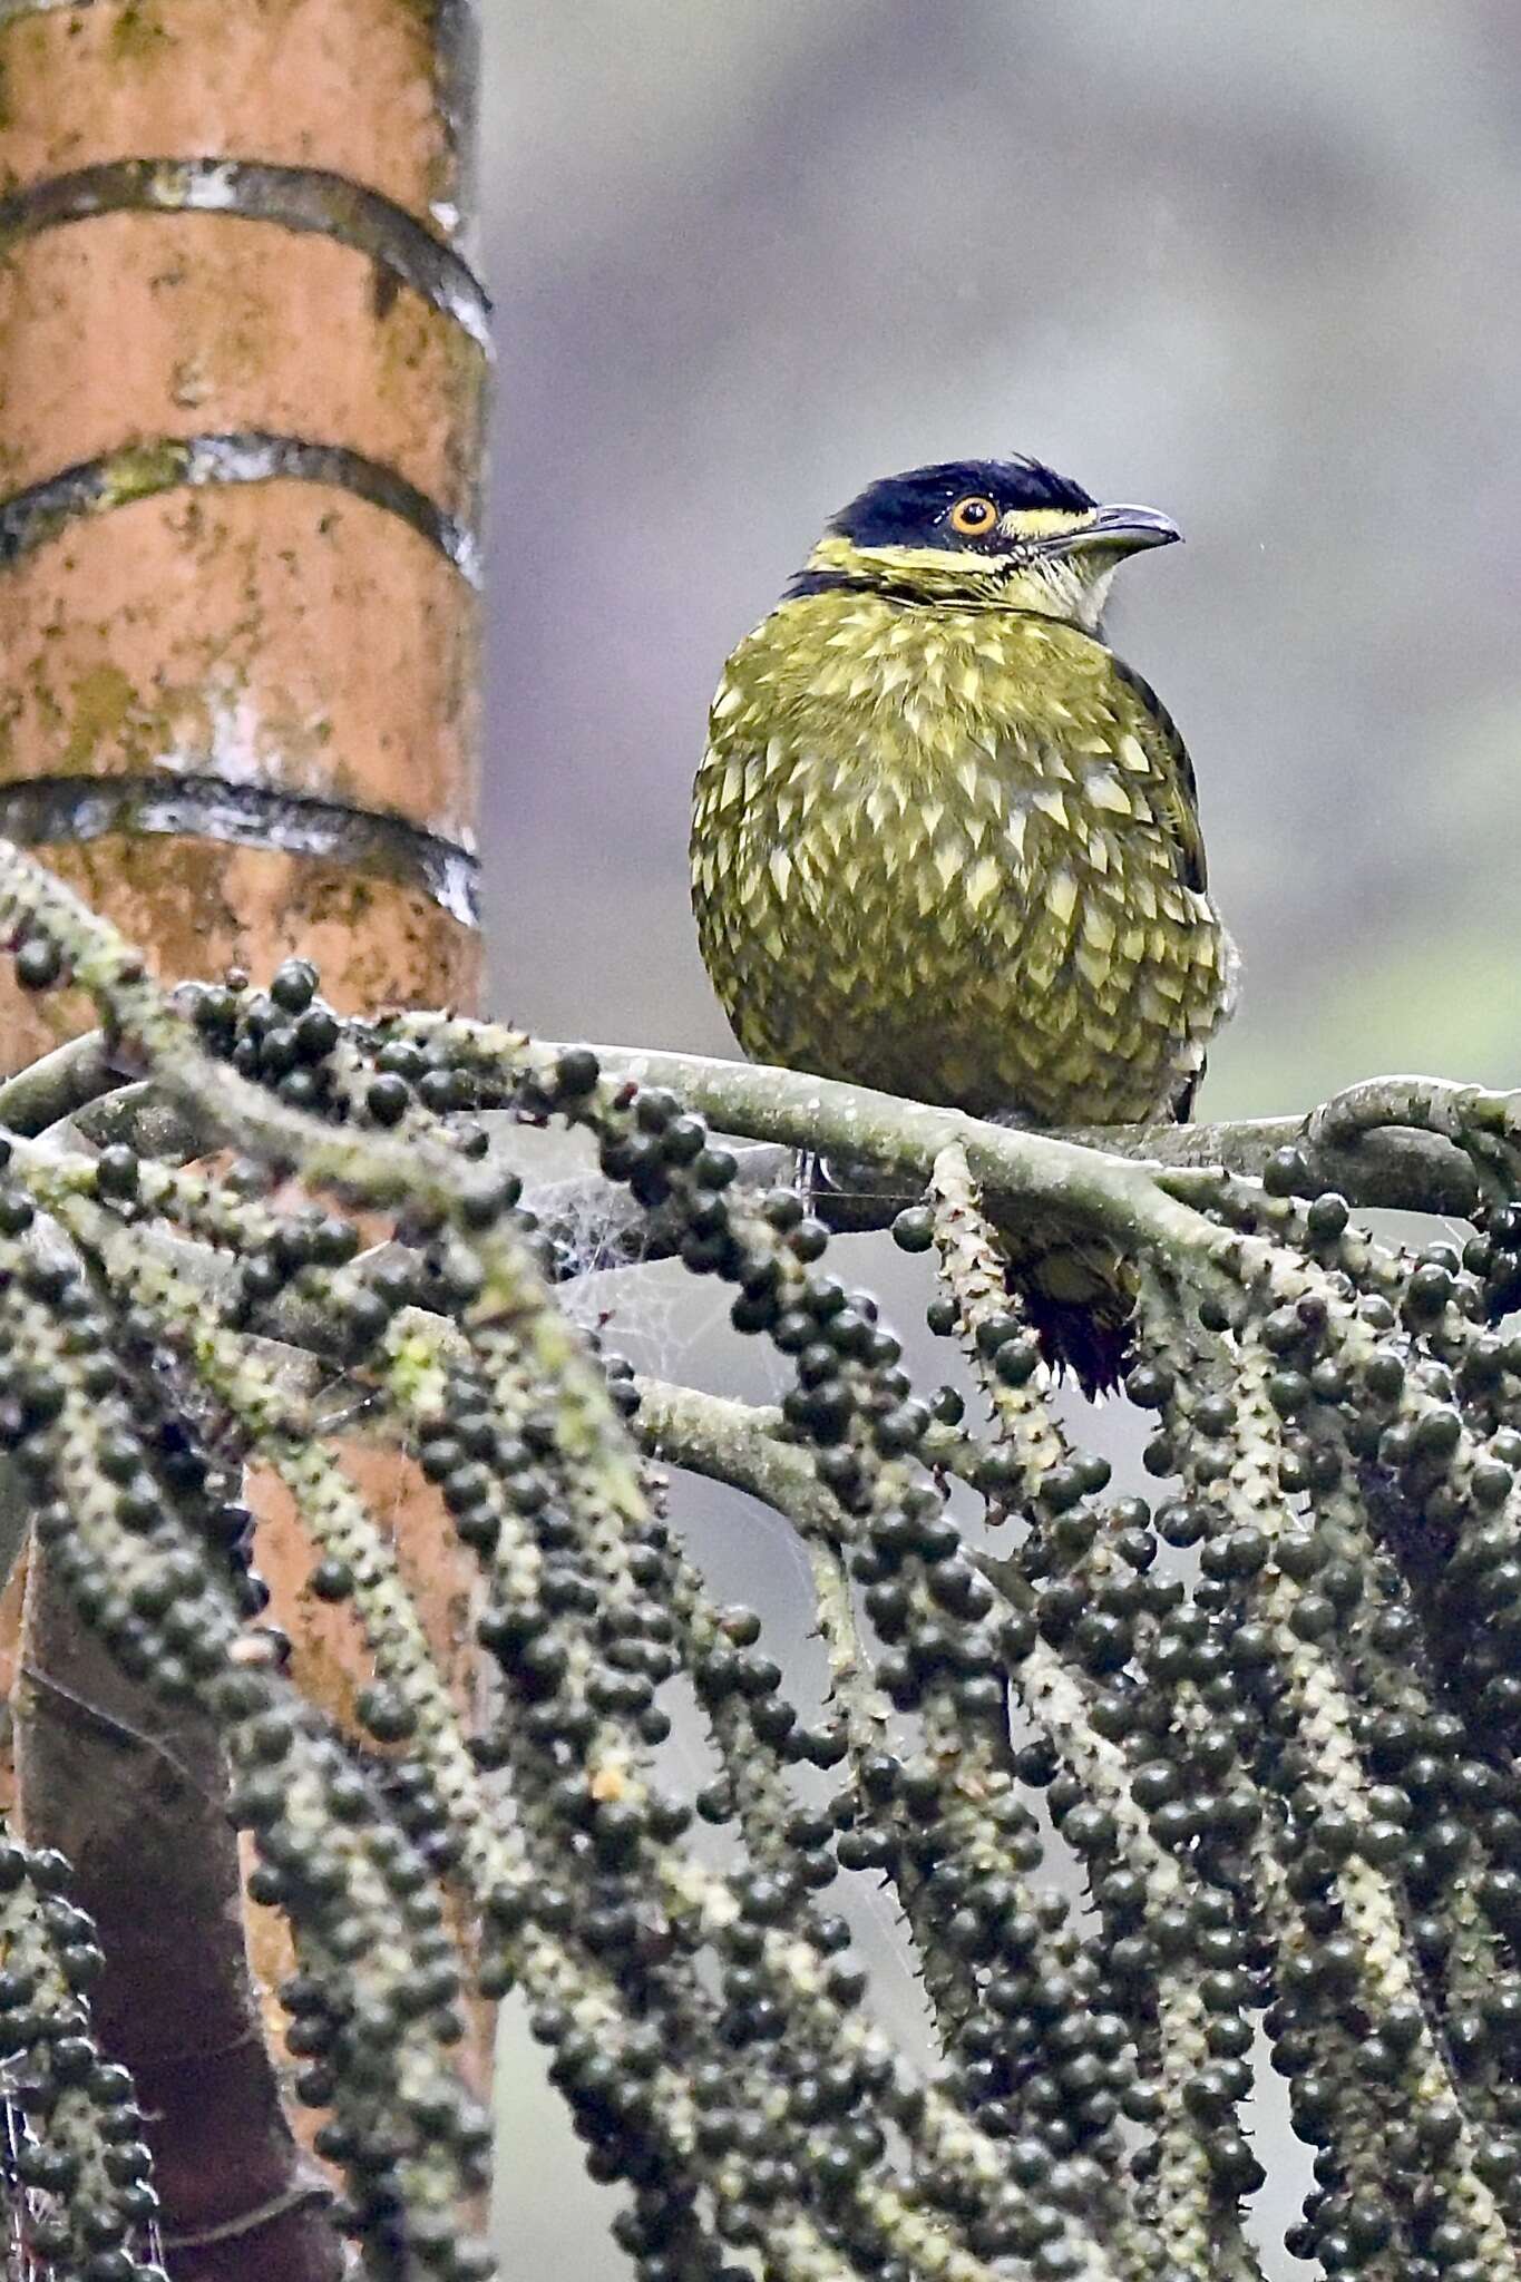
[[(1024, 1127), (1186, 1118), (1238, 954), (1195, 771), (1106, 641), (1181, 539), (1035, 459), (869, 484), (730, 655), (693, 785), (698, 947), (753, 1061)], [(1001, 1230), (1047, 1360), (1117, 1385), (1133, 1289)]]

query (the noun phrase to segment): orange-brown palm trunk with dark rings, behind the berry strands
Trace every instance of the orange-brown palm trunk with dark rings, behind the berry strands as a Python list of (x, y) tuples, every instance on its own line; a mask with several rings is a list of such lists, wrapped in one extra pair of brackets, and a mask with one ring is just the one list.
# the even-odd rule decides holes
[[(472, 0), (0, 0), (0, 833), (164, 977), (301, 952), (340, 1006), (474, 1000), (472, 96)], [(0, 1061), (82, 1020), (7, 968)], [(465, 1686), (461, 1549), (399, 1460), (376, 1495)], [(271, 1616), (340, 1707), (356, 1645), (308, 1565), (269, 1506)], [(328, 2282), (214, 1739), (39, 1561), (25, 1609), (21, 1814), (112, 1956), (166, 2264)]]

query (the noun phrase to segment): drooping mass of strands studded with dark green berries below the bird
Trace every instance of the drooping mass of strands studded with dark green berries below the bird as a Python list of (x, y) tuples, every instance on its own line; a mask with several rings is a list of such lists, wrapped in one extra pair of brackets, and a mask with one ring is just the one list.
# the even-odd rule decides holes
[[(627, 2188), (641, 2282), (755, 2259), (789, 2282), (1256, 2275), (1263, 2040), (1313, 2150), (1293, 2257), (1516, 2282), (1521, 1342), (1496, 1324), (1521, 1209), (1405, 1253), (1343, 1198), (1302, 1200), (1298, 1152), (1263, 1182), (1095, 1157), (1063, 1209), (1133, 1285), (1138, 1495), (1054, 1410), (960, 1143), (894, 1235), (935, 1273), (971, 1424), (830, 1273), (810, 1198), (750, 1189), (675, 1093), (452, 1015), (342, 1020), (303, 961), (171, 1004), (21, 858), (0, 906), (27, 984), (93, 990), (121, 1050), (239, 1150), (210, 1173), (14, 1141), (0, 1328), (25, 1360), (0, 1435), (73, 1607), (226, 1739), (253, 1892), (296, 1944), (296, 2090), (374, 2273), (488, 2271), (458, 2223), (488, 2154), (452, 2063), (474, 1983), (522, 1990), (588, 2170)], [(648, 1431), (495, 1162), (513, 1118), (591, 1132), (602, 1178), (727, 1287), (787, 1362), (780, 1424), (727, 1406), (727, 1451), (698, 1451), (700, 1399), (666, 1390)], [(351, 1374), (474, 1556), (479, 1727), (271, 1333)], [(657, 1440), (805, 1536), (825, 1718), (787, 1700), (755, 1613), (711, 1600)], [(290, 1686), (246, 1456), (294, 1499), (312, 1593), (363, 1627), (349, 1739)], [(682, 1712), (714, 1759), (693, 1798), (654, 1757)], [(930, 2077), (871, 2020), (841, 1876), (901, 1903)], [(36, 2113), (30, 2161), (52, 2163), (64, 2106)], [(96, 2209), (116, 2175), (80, 2166)], [(87, 2225), (75, 2175), (23, 2184), (55, 2191), (41, 2225)], [(130, 2225), (148, 2188), (125, 2186)]]

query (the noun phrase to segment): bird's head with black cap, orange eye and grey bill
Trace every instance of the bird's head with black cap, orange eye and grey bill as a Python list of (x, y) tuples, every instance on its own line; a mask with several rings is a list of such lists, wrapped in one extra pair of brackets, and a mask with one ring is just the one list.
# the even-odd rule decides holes
[(951, 459), (869, 484), (787, 591), (1031, 609), (1095, 632), (1124, 557), (1181, 536), (1154, 507), (1099, 507), (1035, 459)]

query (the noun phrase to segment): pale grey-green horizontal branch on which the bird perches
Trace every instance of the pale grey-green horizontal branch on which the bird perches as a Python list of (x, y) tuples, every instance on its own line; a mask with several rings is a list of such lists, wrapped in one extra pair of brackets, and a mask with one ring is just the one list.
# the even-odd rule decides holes
[[(1215, 1175), (1261, 1180), (1272, 1159), (1288, 1166), (1286, 1187), (1300, 1196), (1336, 1189), (1355, 1209), (1471, 1219), (1507, 1189), (1498, 1168), (1516, 1157), (1521, 1132), (1521, 1093), (1432, 1077), (1364, 1079), (1304, 1116), (1028, 1132), (798, 1070), (625, 1045), (593, 1052), (604, 1070), (666, 1086), (721, 1132), (757, 1143), (739, 1157), (746, 1187), (791, 1180), (794, 1150), (871, 1164), (882, 1175), (871, 1187), (823, 1189), (814, 1200), (821, 1219), (851, 1232), (885, 1228), (921, 1196), (935, 1157), (953, 1143), (965, 1148), (994, 1216), (1040, 1198), (1120, 1241), (1181, 1244), (1186, 1253), (1215, 1235), (1188, 1209), (1209, 1203)], [(0, 1086), (0, 1125), (11, 1132), (41, 1134), (62, 1120), (91, 1143), (130, 1139), (164, 1157), (210, 1146), (182, 1104), (162, 1102), (153, 1086), (123, 1084), (100, 1034)], [(506, 1132), (513, 1114), (486, 1114), (481, 1123)], [(1510, 1189), (1519, 1184), (1521, 1175)], [(661, 1216), (595, 1173), (547, 1184), (534, 1207), (550, 1235), (568, 1239), (570, 1273), (636, 1267), (673, 1251)], [(591, 1260), (577, 1248), (588, 1225), (597, 1232)]]

